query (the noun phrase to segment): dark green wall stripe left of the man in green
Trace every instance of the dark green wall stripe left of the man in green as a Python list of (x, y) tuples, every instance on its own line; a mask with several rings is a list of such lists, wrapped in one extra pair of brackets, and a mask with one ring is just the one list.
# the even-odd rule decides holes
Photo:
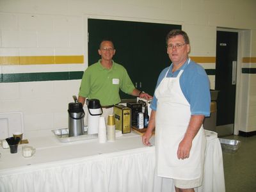
[(38, 72), (26, 74), (1, 74), (0, 83), (28, 82), (28, 81), (61, 81), (82, 79), (83, 71), (72, 72)]

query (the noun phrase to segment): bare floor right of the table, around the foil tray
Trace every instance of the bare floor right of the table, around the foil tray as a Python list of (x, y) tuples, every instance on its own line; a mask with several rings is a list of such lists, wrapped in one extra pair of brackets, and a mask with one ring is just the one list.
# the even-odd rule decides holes
[(223, 136), (241, 141), (236, 153), (223, 152), (226, 192), (256, 191), (256, 136)]

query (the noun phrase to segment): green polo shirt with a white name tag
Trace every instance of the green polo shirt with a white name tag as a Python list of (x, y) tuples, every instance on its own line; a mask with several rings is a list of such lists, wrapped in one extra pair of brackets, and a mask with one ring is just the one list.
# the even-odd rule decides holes
[(99, 60), (84, 71), (79, 96), (99, 99), (102, 106), (109, 106), (121, 101), (119, 90), (131, 94), (134, 88), (122, 65), (113, 61), (113, 66), (107, 69)]

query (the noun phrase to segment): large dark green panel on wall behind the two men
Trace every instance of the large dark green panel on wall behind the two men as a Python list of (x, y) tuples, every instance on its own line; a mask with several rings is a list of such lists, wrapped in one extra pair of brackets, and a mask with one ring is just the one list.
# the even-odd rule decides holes
[[(99, 60), (98, 49), (101, 40), (111, 39), (116, 49), (113, 60), (127, 69), (132, 82), (139, 90), (153, 95), (159, 73), (170, 65), (165, 37), (172, 29), (181, 29), (181, 26), (88, 19), (88, 65)], [(122, 92), (120, 95), (122, 99), (132, 98)]]

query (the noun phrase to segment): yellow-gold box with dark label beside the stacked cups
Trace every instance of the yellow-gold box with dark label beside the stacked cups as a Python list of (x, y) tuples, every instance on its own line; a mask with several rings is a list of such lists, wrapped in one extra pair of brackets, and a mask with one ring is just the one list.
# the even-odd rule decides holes
[(114, 106), (116, 129), (122, 134), (131, 132), (131, 108), (122, 105)]

